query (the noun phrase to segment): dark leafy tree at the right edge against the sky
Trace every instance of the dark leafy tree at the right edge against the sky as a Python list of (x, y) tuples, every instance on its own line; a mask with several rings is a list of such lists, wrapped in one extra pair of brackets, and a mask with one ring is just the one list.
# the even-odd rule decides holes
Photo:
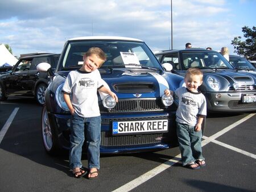
[(234, 37), (231, 43), (234, 45), (234, 52), (249, 60), (256, 60), (256, 27), (242, 27), (242, 32), (246, 39), (242, 41), (241, 36)]

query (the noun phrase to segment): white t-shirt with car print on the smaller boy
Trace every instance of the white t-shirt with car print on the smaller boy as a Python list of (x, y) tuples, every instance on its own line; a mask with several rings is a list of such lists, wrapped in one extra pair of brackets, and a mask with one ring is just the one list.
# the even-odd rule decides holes
[(194, 93), (187, 87), (179, 87), (175, 90), (175, 98), (179, 99), (176, 122), (196, 126), (198, 117), (207, 115), (207, 102), (201, 92)]

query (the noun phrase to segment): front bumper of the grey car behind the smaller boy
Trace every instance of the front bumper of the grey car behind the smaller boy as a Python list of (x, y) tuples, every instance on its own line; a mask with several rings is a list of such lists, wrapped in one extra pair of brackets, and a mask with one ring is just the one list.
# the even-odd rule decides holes
[[(256, 94), (256, 92), (206, 92), (207, 108), (209, 111), (225, 111), (225, 112), (251, 112), (256, 111), (256, 102), (243, 103), (244, 94)], [(218, 98), (216, 97), (218, 96)]]

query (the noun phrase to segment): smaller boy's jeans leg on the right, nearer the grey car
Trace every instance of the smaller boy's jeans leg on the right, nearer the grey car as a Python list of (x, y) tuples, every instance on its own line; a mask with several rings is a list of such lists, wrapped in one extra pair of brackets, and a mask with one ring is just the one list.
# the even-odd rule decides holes
[(204, 160), (204, 157), (202, 155), (202, 145), (201, 145), (201, 139), (202, 139), (202, 131), (191, 131), (191, 149), (193, 153), (193, 157), (196, 160)]

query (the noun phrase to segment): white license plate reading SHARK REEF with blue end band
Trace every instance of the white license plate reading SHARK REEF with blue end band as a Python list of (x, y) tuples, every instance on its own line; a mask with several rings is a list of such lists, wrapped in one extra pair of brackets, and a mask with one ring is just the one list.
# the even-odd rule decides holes
[(168, 132), (168, 119), (113, 122), (113, 135)]

